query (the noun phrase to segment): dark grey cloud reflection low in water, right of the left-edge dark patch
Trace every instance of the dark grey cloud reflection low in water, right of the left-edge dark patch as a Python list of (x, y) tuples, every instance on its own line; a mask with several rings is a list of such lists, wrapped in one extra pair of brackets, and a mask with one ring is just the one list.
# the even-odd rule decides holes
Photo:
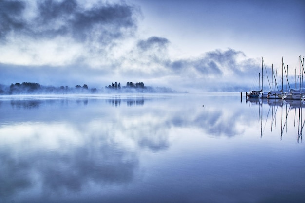
[(130, 182), (138, 162), (134, 153), (106, 143), (94, 149), (76, 148), (69, 154), (50, 153), (41, 158), (34, 157), (34, 160), (42, 161), (38, 164), (43, 165), (40, 170), (41, 174), (45, 174), (45, 191), (51, 189), (53, 192), (63, 188), (86, 190), (84, 187), (90, 183), (102, 186), (103, 183)]

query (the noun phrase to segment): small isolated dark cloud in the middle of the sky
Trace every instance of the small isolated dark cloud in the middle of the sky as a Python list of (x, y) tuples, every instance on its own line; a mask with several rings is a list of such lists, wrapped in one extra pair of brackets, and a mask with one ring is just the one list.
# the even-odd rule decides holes
[(143, 51), (147, 51), (152, 48), (164, 49), (169, 43), (170, 41), (167, 38), (153, 36), (146, 40), (140, 40), (137, 43), (137, 47)]

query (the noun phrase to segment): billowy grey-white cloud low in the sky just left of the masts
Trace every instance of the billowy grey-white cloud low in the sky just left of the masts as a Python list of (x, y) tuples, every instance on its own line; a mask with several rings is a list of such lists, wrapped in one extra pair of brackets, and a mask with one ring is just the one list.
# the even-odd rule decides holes
[(160, 61), (162, 75), (171, 75), (168, 84), (201, 91), (241, 91), (259, 73), (259, 61), (228, 48), (199, 57)]

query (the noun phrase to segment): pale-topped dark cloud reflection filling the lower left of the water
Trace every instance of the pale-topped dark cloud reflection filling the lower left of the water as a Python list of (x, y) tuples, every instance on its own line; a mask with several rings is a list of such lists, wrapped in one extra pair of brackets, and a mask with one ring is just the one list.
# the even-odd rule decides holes
[(0, 181), (5, 183), (0, 186), (1, 197), (14, 196), (20, 190), (41, 190), (44, 195), (85, 192), (92, 184), (102, 189), (104, 184), (133, 180), (137, 156), (115, 142), (110, 133), (88, 134), (69, 125), (33, 124), (17, 128), (18, 134), (11, 128), (0, 129), (1, 134), (14, 136), (1, 137), (2, 146), (10, 147), (0, 150)]

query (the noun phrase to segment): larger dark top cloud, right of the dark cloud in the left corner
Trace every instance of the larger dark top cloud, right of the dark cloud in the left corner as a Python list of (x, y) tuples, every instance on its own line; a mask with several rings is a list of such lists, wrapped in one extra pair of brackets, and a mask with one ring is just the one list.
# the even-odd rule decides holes
[[(135, 28), (134, 9), (127, 4), (97, 4), (85, 9), (76, 0), (38, 3), (37, 28), (42, 36), (67, 35), (76, 40), (107, 44)], [(38, 30), (36, 30), (37, 33)]]

